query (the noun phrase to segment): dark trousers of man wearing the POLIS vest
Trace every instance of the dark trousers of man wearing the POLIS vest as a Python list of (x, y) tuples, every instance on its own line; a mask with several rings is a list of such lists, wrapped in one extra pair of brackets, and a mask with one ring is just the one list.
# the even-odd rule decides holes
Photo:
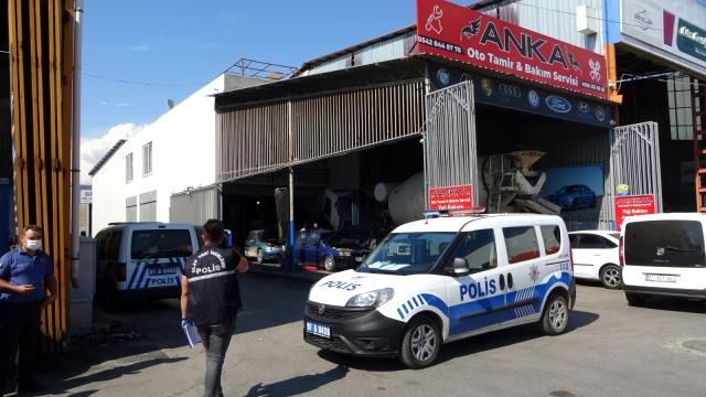
[(206, 350), (206, 377), (204, 379), (204, 397), (221, 397), (221, 373), (225, 352), (231, 344), (231, 335), (235, 329), (235, 318), (231, 322), (211, 326), (197, 326), (201, 343)]

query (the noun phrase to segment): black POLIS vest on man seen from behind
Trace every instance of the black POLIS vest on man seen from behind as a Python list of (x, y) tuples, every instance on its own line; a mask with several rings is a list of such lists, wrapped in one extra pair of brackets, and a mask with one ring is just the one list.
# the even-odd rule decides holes
[(204, 246), (186, 259), (186, 318), (194, 324), (207, 326), (227, 323), (240, 309), (236, 265), (232, 248)]

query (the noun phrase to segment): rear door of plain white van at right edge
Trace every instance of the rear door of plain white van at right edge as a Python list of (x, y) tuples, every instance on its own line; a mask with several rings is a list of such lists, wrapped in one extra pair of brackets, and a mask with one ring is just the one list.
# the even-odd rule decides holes
[(699, 221), (628, 223), (624, 258), (625, 285), (676, 289), (706, 287), (706, 248)]

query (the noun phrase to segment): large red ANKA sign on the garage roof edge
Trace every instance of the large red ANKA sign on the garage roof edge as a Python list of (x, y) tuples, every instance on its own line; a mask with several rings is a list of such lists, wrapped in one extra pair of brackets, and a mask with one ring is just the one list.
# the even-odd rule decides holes
[(443, 0), (417, 0), (417, 45), (478, 67), (608, 98), (606, 58)]

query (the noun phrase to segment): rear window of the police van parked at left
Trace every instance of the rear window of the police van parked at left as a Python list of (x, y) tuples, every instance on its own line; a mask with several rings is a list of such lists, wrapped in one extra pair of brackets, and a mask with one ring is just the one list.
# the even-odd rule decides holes
[(184, 258), (192, 254), (188, 229), (135, 230), (131, 244), (132, 259)]

